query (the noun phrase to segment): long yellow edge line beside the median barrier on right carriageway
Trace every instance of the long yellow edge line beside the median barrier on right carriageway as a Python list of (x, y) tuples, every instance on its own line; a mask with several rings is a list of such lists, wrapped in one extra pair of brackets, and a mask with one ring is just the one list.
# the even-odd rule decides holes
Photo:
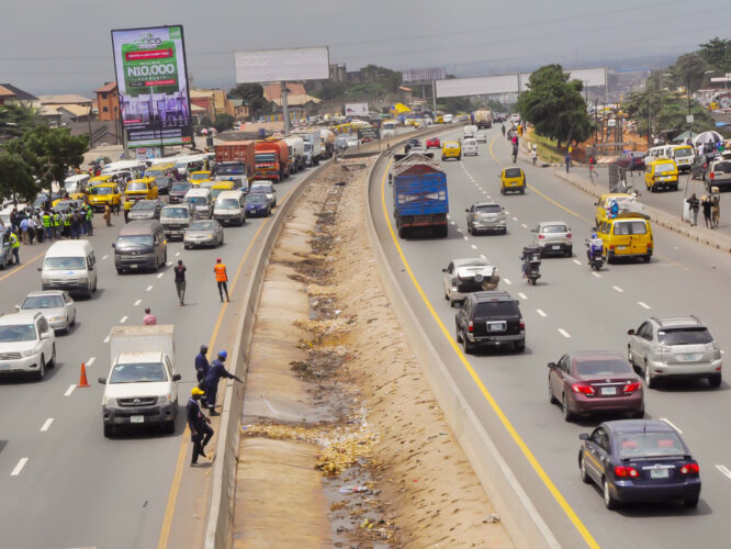
[[(495, 139), (493, 139), (495, 141)], [(492, 143), (491, 143), (491, 154), (492, 154)], [(495, 412), (495, 415), (497, 418), (501, 421), (503, 426), (505, 427), (505, 430), (508, 432), (515, 444), (520, 448), (520, 451), (522, 451), (524, 456), (530, 463), (530, 466), (533, 468), (533, 471), (538, 474), (538, 477), (543, 481), (543, 484), (546, 488), (549, 490), (551, 495), (555, 498), (556, 503), (561, 506), (563, 512), (566, 514), (569, 519), (572, 522), (578, 534), (584, 538), (584, 541), (586, 541), (586, 545), (593, 549), (598, 549), (599, 545), (596, 542), (594, 537), (589, 534), (588, 529), (586, 526), (584, 526), (584, 523), (582, 523), (581, 518), (576, 515), (574, 509), (569, 505), (569, 502), (563, 497), (561, 492), (559, 492), (559, 489), (553, 484), (553, 481), (549, 478), (548, 473), (543, 470), (541, 464), (538, 462), (538, 459), (533, 456), (533, 453), (530, 451), (526, 442), (522, 440), (520, 435), (515, 430), (515, 427), (513, 427), (513, 424), (507, 418), (503, 410), (499, 407), (493, 395), (490, 393), (485, 384), (482, 382), (482, 379), (480, 379), (480, 376), (474, 371), (472, 368), (472, 365), (470, 361), (466, 359), (464, 354), (462, 354), (462, 350), (459, 348), (459, 345), (452, 338), (451, 334), (445, 326), (445, 324), (441, 322), (441, 318), (439, 318), (439, 315), (435, 311), (434, 306), (431, 305), (431, 302), (429, 299), (426, 296), (424, 293), (424, 290), (421, 289), (421, 285), (419, 282), (416, 280), (416, 277), (414, 276), (414, 271), (412, 270), (412, 267), (409, 266), (408, 261), (406, 260), (406, 256), (404, 255), (404, 251), (401, 248), (401, 245), (398, 244), (398, 238), (396, 237), (396, 233), (393, 229), (393, 225), (391, 224), (391, 220), (389, 217), (389, 210), (386, 208), (386, 202), (385, 202), (385, 180), (386, 176), (389, 173), (389, 168), (391, 167), (391, 163), (386, 166), (386, 169), (383, 173), (383, 179), (381, 180), (381, 205), (383, 208), (383, 216), (386, 221), (386, 225), (389, 226), (389, 232), (391, 233), (391, 238), (393, 240), (394, 246), (396, 247), (396, 251), (398, 253), (398, 256), (401, 257), (401, 261), (404, 265), (404, 268), (406, 269), (406, 272), (408, 277), (412, 279), (412, 283), (414, 284), (414, 288), (416, 288), (416, 291), (420, 295), (421, 300), (424, 301), (424, 304), (426, 307), (429, 310), (429, 313), (431, 313), (431, 316), (434, 317), (435, 322), (439, 326), (439, 329), (443, 334), (445, 338), (449, 343), (449, 345), (452, 347), (454, 352), (457, 354), (458, 358), (460, 359), (460, 362), (462, 362), (462, 366), (466, 369), (466, 371), (470, 373), (470, 377), (474, 381), (475, 385), (477, 385), (477, 389), (480, 389), (480, 392), (482, 395), (485, 397), (487, 403), (490, 404), (490, 407)]]

